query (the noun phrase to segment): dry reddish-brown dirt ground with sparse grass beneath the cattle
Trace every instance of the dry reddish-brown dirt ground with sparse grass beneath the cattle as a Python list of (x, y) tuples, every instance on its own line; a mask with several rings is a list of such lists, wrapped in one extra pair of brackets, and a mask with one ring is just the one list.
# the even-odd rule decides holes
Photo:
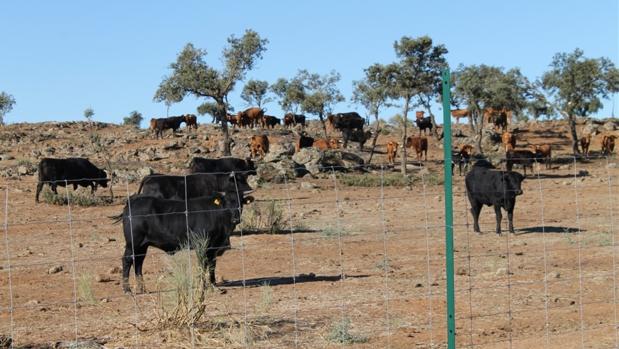
[[(518, 137), (551, 143), (562, 157), (566, 135), (564, 124), (549, 122)], [(379, 162), (389, 139), (379, 138)], [(351, 187), (326, 175), (259, 188), (252, 205), (274, 202), (283, 226), (274, 234), (237, 229), (217, 264), (226, 292), (207, 294), (192, 331), (157, 320), (172, 293), (171, 265), (195, 265), (193, 253), (149, 250), (147, 293), (121, 290), (124, 239), (109, 217), (137, 183), (116, 183), (113, 204), (79, 207), (35, 204), (36, 176), (4, 179), (0, 334), (18, 347), (76, 338), (109, 348), (446, 347), (445, 200), (432, 178), (442, 178), (442, 155), (431, 144), (428, 174), (409, 187)], [(616, 163), (567, 157), (536, 167), (516, 204), (516, 234), (502, 236), (487, 207), (482, 234), (473, 233), (456, 170), (457, 347), (619, 345)]]

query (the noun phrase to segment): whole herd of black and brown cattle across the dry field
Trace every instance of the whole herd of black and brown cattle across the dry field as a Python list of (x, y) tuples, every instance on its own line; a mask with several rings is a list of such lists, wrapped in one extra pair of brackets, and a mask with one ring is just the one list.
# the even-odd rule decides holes
[[(250, 108), (236, 115), (236, 124), (245, 126), (262, 123), (267, 126), (272, 123), (269, 120), (273, 119), (263, 115), (261, 109), (256, 112), (256, 109), (258, 108)], [(499, 114), (507, 118), (506, 112)], [(286, 125), (305, 124), (305, 117), (302, 115), (287, 114), (284, 120)], [(432, 131), (432, 120), (425, 118), (423, 112), (418, 112), (415, 121), (419, 127), (419, 135), (408, 137), (404, 146), (415, 150), (418, 161), (421, 161), (422, 155), (424, 160), (427, 160), (428, 138), (425, 136), (425, 129)], [(175, 131), (182, 122), (188, 127), (197, 127), (196, 117), (187, 114), (153, 119), (151, 129), (159, 137), (165, 129), (171, 128)], [(365, 120), (357, 113), (329, 115), (327, 122), (333, 129), (341, 131), (344, 147), (349, 141), (354, 141), (358, 142), (362, 149), (372, 136), (370, 132), (363, 130)], [(421, 135), (422, 131), (424, 136)], [(604, 154), (613, 152), (615, 139), (613, 135), (604, 135)], [(480, 231), (478, 220), (484, 205), (494, 207), (497, 234), (501, 234), (501, 208), (507, 211), (509, 231), (514, 232), (513, 212), (516, 197), (522, 194), (521, 183), (526, 177), (526, 168), (532, 168), (532, 163), (540, 160), (546, 163), (547, 168), (550, 166), (552, 148), (549, 144), (516, 149), (516, 138), (507, 131), (503, 132), (501, 141), (505, 148), (506, 170), (496, 169), (488, 161), (477, 160), (465, 177), (476, 232)], [(589, 155), (590, 144), (590, 135), (580, 140), (585, 156)], [(393, 164), (399, 145), (390, 141), (386, 146), (387, 161)], [(296, 141), (296, 151), (307, 147), (335, 149), (339, 147), (339, 141), (313, 138), (302, 132)], [(253, 136), (250, 148), (252, 156), (264, 156), (269, 151), (267, 135)], [(472, 162), (473, 147), (462, 145), (454, 150), (452, 155), (452, 173), (455, 164), (458, 164), (459, 173), (462, 175), (462, 167), (464, 166), (466, 172)], [(514, 165), (523, 167), (524, 176), (512, 171)], [(243, 206), (254, 201), (249, 195), (253, 188), (248, 184), (247, 177), (256, 175), (256, 168), (251, 158), (194, 158), (188, 172), (190, 174), (186, 176), (153, 174), (144, 177), (137, 193), (127, 200), (122, 213), (111, 217), (115, 222), (122, 222), (125, 237), (122, 257), (122, 288), (125, 292), (131, 292), (129, 273), (132, 266), (136, 277), (136, 291), (144, 291), (142, 265), (151, 246), (170, 254), (182, 248), (199, 248), (206, 256), (203, 259), (204, 270), (208, 270), (205, 286), (215, 287), (216, 257), (229, 248), (230, 235), (241, 222)], [(57, 193), (57, 186), (69, 185), (74, 189), (78, 186), (91, 187), (94, 192), (98, 186), (107, 187), (110, 181), (105, 171), (83, 158), (42, 159), (38, 176), (35, 197), (37, 203), (45, 184), (48, 184), (54, 193)], [(206, 241), (206, 245), (199, 244), (200, 241)]]

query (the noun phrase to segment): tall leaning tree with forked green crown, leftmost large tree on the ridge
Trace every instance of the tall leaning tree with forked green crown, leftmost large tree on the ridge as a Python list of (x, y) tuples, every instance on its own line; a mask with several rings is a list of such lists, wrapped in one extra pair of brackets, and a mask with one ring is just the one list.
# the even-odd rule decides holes
[(241, 38), (234, 35), (227, 40), (222, 52), (223, 68), (215, 69), (206, 60), (206, 51), (185, 45), (176, 61), (170, 64), (172, 73), (166, 76), (154, 100), (158, 102), (180, 102), (187, 95), (209, 98), (216, 108), (206, 108), (216, 113), (224, 134), (224, 155), (230, 155), (230, 138), (226, 122), (227, 97), (235, 84), (243, 80), (249, 70), (262, 58), (267, 39), (248, 29)]

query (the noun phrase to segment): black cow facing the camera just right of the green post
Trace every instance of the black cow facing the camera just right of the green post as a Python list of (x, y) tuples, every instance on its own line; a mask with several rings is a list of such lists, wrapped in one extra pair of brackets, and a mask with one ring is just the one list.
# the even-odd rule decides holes
[(497, 234), (501, 234), (501, 208), (507, 211), (509, 232), (514, 232), (514, 207), (516, 196), (522, 195), (523, 180), (524, 176), (520, 173), (498, 171), (488, 161), (479, 160), (475, 163), (464, 179), (466, 194), (471, 203), (475, 232), (480, 232), (479, 213), (483, 205), (494, 206)]

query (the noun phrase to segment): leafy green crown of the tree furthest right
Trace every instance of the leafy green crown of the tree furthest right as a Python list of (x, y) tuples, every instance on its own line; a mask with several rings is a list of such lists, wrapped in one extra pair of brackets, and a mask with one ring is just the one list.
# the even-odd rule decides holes
[(541, 84), (560, 111), (587, 116), (602, 108), (600, 97), (619, 91), (619, 70), (608, 58), (586, 58), (581, 49), (557, 53)]

